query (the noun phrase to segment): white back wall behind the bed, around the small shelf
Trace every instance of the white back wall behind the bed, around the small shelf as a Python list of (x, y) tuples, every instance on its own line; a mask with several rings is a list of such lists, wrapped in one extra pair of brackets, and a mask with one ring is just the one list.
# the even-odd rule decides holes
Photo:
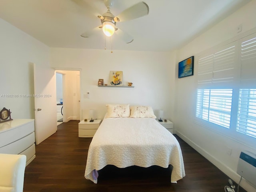
[[(50, 63), (54, 68), (81, 69), (82, 118), (89, 118), (90, 109), (96, 118), (103, 118), (105, 104), (127, 103), (150, 105), (163, 109), (164, 118), (172, 120), (174, 103), (175, 54), (168, 52), (135, 52), (114, 50), (84, 50), (51, 48)], [(98, 87), (98, 79), (110, 84), (110, 71), (123, 71), (123, 83), (134, 88)], [(90, 98), (84, 94), (90, 92)]]

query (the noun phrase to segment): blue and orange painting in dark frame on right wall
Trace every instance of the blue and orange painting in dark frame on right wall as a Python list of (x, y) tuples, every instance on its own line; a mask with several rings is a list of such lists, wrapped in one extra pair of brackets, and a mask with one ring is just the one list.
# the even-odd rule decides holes
[(191, 76), (194, 73), (194, 56), (179, 62), (178, 78)]

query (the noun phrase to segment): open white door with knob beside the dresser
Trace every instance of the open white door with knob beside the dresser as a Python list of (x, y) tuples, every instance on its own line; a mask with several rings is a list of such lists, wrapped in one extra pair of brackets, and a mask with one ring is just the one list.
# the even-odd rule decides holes
[(49, 66), (34, 64), (34, 101), (36, 144), (57, 131), (56, 78)]

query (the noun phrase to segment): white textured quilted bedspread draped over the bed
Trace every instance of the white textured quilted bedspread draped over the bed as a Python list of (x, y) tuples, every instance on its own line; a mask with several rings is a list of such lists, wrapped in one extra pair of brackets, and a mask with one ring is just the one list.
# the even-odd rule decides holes
[(171, 182), (185, 176), (180, 144), (153, 118), (105, 118), (92, 138), (85, 178), (97, 183), (97, 170), (106, 165), (172, 165)]

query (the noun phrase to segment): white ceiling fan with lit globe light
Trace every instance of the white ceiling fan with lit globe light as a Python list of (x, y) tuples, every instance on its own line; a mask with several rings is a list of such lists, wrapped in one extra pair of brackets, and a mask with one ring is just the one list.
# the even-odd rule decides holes
[(92, 30), (86, 31), (81, 34), (82, 37), (88, 38), (93, 35), (95, 32), (99, 30), (103, 30), (106, 36), (112, 36), (116, 33), (124, 42), (131, 43), (133, 41), (133, 37), (123, 32), (119, 28), (116, 27), (116, 22), (123, 22), (127, 20), (133, 20), (145, 15), (148, 15), (149, 7), (145, 2), (139, 2), (130, 8), (127, 8), (123, 12), (121, 12), (118, 16), (114, 16), (110, 12), (110, 8), (112, 6), (112, 0), (103, 0), (105, 6), (108, 8), (107, 12), (102, 14), (102, 16), (98, 16), (101, 21), (101, 26), (98, 26)]

